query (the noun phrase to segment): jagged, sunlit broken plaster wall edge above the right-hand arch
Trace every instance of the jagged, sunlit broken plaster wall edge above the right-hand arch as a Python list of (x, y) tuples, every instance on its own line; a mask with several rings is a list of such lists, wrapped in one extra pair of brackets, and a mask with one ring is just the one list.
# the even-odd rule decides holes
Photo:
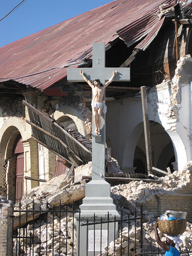
[[(191, 55), (184, 55), (177, 63), (175, 75), (172, 80), (164, 81), (154, 86), (148, 94), (148, 102), (152, 106), (155, 121), (161, 120), (166, 130), (176, 131), (180, 122), (180, 109), (185, 99), (182, 99), (182, 88), (190, 85), (192, 73)], [(188, 67), (190, 66), (190, 67)]]

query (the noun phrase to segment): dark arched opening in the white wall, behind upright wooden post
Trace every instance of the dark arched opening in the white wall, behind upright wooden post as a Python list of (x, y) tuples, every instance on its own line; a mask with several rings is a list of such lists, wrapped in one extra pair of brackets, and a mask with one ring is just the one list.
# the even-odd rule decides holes
[[(175, 161), (175, 153), (171, 138), (161, 124), (150, 121), (149, 127), (153, 166), (163, 171), (167, 171), (169, 167), (174, 171), (172, 162)], [(136, 167), (135, 172), (147, 173), (143, 126), (135, 147), (133, 167)]]

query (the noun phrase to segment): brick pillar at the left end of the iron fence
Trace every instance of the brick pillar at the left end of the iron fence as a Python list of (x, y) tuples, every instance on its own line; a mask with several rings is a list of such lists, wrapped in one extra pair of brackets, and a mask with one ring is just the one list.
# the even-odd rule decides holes
[(0, 196), (0, 256), (12, 255), (12, 201)]

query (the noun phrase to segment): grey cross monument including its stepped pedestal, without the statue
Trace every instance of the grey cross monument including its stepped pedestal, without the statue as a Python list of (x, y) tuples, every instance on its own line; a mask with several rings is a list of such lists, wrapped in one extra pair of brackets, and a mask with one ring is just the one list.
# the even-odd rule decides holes
[[(113, 81), (130, 81), (130, 69), (129, 68), (106, 68), (105, 67), (105, 44), (97, 43), (93, 44), (93, 61), (92, 68), (68, 68), (67, 79), (69, 82), (84, 82), (80, 70), (84, 72), (84, 75), (88, 80), (100, 79), (102, 84), (105, 84), (106, 80), (109, 80), (113, 74), (113, 71), (117, 70), (118, 74)], [(105, 93), (104, 98), (105, 100)], [(93, 230), (93, 226), (81, 227), (80, 222), (86, 220), (92, 220), (95, 214), (96, 219), (106, 217), (110, 214), (110, 218), (114, 216), (119, 217), (119, 213), (116, 210), (116, 206), (113, 204), (111, 198), (110, 184), (105, 181), (105, 114), (101, 115), (101, 134), (98, 136), (95, 134), (95, 123), (92, 115), (92, 181), (85, 185), (85, 197), (83, 204), (80, 206), (81, 216), (75, 214), (77, 219), (77, 239), (78, 252), (77, 255), (92, 256), (100, 253), (100, 243), (102, 240), (102, 250), (108, 243), (114, 240), (114, 230), (116, 230), (116, 236), (118, 231), (118, 222), (104, 223), (102, 224), (102, 239), (100, 224), (96, 224)], [(86, 237), (88, 237), (86, 241)], [(93, 246), (93, 244), (95, 244)]]

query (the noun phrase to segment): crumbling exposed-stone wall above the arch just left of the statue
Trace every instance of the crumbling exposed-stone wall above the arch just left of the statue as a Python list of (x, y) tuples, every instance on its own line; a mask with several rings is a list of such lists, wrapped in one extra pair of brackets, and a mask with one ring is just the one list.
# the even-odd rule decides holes
[(92, 113), (86, 107), (84, 97), (48, 97), (45, 100), (45, 108), (43, 109), (43, 111), (48, 113), (52, 117), (54, 112), (62, 106), (69, 106), (77, 110), (84, 118), (86, 134), (91, 134)]

